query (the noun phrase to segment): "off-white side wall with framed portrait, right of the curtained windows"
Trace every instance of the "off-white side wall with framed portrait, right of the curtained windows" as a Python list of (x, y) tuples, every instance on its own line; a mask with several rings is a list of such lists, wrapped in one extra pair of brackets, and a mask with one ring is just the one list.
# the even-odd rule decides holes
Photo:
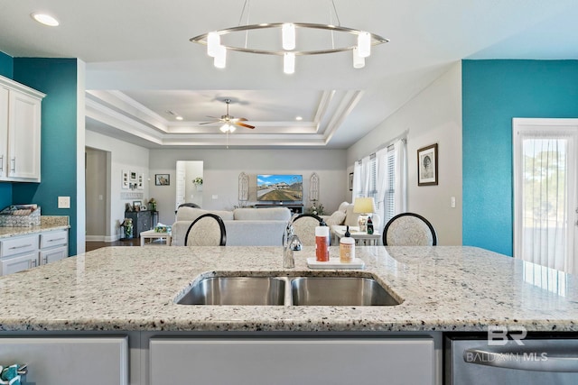
[[(407, 209), (430, 220), (439, 244), (461, 245), (461, 62), (347, 151), (347, 166), (400, 135), (407, 137)], [(417, 186), (417, 150), (438, 143), (437, 186)], [(451, 208), (450, 199), (456, 198)]]

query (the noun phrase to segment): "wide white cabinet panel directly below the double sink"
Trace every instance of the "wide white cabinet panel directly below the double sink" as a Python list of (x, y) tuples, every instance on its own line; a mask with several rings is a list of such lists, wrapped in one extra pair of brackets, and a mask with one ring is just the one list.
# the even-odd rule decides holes
[(151, 385), (433, 384), (433, 339), (152, 338)]

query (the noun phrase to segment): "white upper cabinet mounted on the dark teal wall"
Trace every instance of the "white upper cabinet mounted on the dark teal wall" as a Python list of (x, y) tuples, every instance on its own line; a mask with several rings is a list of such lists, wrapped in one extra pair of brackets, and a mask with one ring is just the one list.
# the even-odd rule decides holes
[(40, 182), (44, 96), (0, 77), (0, 180)]

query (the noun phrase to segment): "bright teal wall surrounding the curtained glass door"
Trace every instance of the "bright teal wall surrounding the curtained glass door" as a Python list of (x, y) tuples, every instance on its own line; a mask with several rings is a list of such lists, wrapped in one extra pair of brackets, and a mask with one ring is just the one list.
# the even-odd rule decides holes
[(578, 117), (578, 60), (462, 61), (463, 244), (513, 254), (512, 118)]

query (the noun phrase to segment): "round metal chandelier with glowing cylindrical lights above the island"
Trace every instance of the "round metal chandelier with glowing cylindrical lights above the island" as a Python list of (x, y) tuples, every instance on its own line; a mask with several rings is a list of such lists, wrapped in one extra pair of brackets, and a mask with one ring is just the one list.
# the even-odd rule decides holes
[[(207, 54), (213, 58), (213, 65), (218, 69), (225, 69), (227, 67), (228, 50), (281, 56), (283, 57), (283, 69), (286, 74), (294, 73), (295, 57), (297, 56), (322, 55), (350, 50), (352, 52), (353, 68), (362, 69), (365, 67), (365, 59), (371, 54), (371, 47), (389, 41), (375, 33), (341, 26), (333, 0), (331, 0), (331, 5), (338, 22), (337, 25), (332, 23), (246, 23), (241, 25), (240, 20), (243, 19), (246, 9), (248, 20), (248, 1), (249, 0), (245, 0), (245, 5), (243, 5), (238, 26), (203, 33), (190, 39), (191, 42), (207, 46)], [(281, 41), (281, 47), (266, 49), (264, 47), (250, 46), (248, 41), (248, 32), (256, 30), (276, 31), (279, 36), (279, 39), (276, 39), (276, 41)], [(328, 39), (326, 39), (326, 45), (314, 49), (297, 49), (297, 38), (301, 32), (305, 31), (330, 32)], [(243, 45), (235, 45), (233, 43), (225, 42), (227, 35), (238, 34), (239, 32), (246, 33)], [(335, 41), (337, 39), (335, 38), (338, 34), (349, 35), (350, 39), (341, 39), (340, 41), (345, 42), (336, 45)], [(351, 35), (353, 35), (353, 39), (351, 39)]]

